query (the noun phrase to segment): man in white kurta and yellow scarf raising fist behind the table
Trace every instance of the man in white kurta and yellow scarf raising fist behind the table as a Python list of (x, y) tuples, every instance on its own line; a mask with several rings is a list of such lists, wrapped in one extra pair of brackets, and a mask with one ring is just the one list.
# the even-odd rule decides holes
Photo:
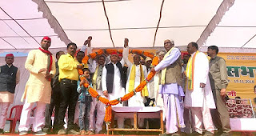
[[(125, 39), (125, 47), (123, 48), (123, 59), (128, 66), (128, 79), (126, 82), (126, 94), (129, 94), (130, 91), (133, 91), (147, 76), (146, 66), (140, 64), (140, 56), (138, 54), (134, 55), (134, 64), (128, 59), (129, 55), (129, 46), (128, 39)], [(133, 70), (134, 68), (134, 70)], [(142, 75), (143, 73), (143, 75)], [(133, 78), (133, 79), (132, 79)], [(148, 96), (148, 87), (145, 87), (142, 92), (137, 92), (133, 97), (128, 100), (128, 106), (145, 106), (146, 102), (145, 96)], [(132, 124), (134, 120), (131, 120)], [(144, 119), (139, 119), (138, 126), (143, 127)]]

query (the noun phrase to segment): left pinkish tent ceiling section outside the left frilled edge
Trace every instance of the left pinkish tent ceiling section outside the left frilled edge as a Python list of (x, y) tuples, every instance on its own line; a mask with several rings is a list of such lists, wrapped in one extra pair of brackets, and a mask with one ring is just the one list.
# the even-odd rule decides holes
[(66, 46), (38, 12), (30, 0), (0, 2), (0, 50), (36, 49), (46, 35), (52, 38), (52, 48)]

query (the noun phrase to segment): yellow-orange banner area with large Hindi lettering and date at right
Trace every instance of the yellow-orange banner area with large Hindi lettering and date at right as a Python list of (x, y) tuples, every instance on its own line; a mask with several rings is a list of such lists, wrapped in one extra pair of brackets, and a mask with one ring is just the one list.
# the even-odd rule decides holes
[(250, 98), (256, 106), (256, 54), (219, 53), (226, 60), (230, 98)]

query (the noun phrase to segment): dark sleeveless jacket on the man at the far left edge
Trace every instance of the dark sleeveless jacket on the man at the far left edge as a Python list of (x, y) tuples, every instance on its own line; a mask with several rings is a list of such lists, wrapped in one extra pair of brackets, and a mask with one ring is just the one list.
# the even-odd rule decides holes
[(0, 91), (9, 91), (14, 94), (16, 87), (16, 74), (18, 68), (15, 66), (1, 66), (0, 72)]

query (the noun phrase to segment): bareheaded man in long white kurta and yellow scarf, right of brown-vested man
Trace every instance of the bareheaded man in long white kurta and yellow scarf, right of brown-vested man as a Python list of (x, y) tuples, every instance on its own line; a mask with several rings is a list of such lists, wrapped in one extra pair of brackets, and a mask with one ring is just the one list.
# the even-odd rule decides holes
[(194, 119), (193, 134), (202, 134), (202, 122), (206, 135), (214, 134), (210, 109), (215, 109), (214, 97), (210, 88), (209, 62), (206, 54), (198, 51), (198, 44), (190, 42), (187, 51), (191, 54), (186, 68), (185, 106), (191, 109)]

